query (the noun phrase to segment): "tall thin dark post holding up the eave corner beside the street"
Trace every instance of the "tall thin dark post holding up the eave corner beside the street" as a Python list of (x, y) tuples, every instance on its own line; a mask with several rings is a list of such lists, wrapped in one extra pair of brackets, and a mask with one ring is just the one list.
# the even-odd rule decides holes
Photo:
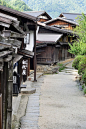
[(36, 80), (36, 25), (34, 30), (34, 81)]

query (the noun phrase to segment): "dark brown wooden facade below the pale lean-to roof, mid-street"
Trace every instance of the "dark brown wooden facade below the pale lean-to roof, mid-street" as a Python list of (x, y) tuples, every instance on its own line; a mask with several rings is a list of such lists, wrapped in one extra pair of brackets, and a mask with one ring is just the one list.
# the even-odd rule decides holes
[(46, 47), (41, 48), (43, 51), (37, 55), (37, 64), (55, 64), (61, 60), (71, 58), (73, 55), (68, 52), (68, 49), (68, 44), (48, 44)]

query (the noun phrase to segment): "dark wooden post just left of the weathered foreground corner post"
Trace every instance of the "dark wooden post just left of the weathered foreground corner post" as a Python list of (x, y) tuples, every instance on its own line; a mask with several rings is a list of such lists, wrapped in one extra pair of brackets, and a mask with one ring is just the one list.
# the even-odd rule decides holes
[(6, 89), (6, 86), (7, 86), (7, 64), (4, 63), (3, 59), (1, 58), (0, 59), (0, 63), (2, 64), (1, 67), (2, 67), (2, 71), (0, 73), (0, 86), (1, 86), (1, 93), (2, 93), (2, 128), (3, 129), (6, 129), (6, 118), (7, 118), (7, 113), (6, 113), (6, 108), (7, 108), (7, 97), (6, 97), (6, 94), (7, 94), (7, 89)]

